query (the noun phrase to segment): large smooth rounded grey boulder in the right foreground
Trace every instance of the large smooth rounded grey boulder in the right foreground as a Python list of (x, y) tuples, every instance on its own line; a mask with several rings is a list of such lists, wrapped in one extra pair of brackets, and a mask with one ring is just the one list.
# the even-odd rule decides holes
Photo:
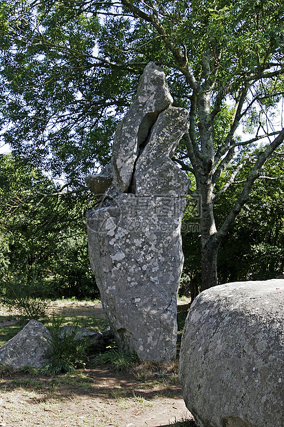
[(202, 292), (182, 335), (179, 378), (200, 427), (283, 427), (284, 280)]

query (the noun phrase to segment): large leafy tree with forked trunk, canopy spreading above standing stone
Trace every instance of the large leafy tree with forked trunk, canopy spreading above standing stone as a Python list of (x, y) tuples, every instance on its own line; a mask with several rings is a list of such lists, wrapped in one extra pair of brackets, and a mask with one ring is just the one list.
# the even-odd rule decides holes
[[(175, 161), (195, 177), (202, 289), (214, 286), (220, 244), (283, 143), (283, 127), (274, 127), (283, 21), (280, 0), (1, 1), (3, 138), (78, 185), (107, 162), (143, 67), (164, 67), (175, 105), (189, 110)], [(241, 125), (248, 136), (238, 136)], [(244, 169), (217, 227), (214, 204)]]

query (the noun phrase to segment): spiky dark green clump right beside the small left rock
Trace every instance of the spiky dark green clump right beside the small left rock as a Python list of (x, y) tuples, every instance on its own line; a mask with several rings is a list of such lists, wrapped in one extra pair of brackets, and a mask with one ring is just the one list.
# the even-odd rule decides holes
[(59, 375), (74, 371), (78, 366), (85, 365), (84, 356), (87, 351), (86, 340), (78, 340), (78, 324), (63, 331), (64, 317), (52, 316), (50, 331), (50, 346), (47, 350), (48, 364), (41, 369), (44, 374)]

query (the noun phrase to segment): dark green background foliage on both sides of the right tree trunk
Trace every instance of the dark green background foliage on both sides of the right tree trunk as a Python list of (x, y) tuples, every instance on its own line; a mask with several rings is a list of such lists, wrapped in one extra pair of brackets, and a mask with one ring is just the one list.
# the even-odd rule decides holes
[[(265, 280), (276, 278), (284, 271), (284, 186), (283, 158), (274, 152), (265, 163), (250, 198), (223, 241), (218, 256), (219, 283), (239, 280)], [(239, 173), (226, 194), (215, 203), (217, 228), (230, 212), (230, 207), (241, 194), (243, 180), (248, 175), (248, 166)], [(229, 172), (228, 172), (229, 173)], [(223, 184), (226, 183), (223, 176)], [(184, 241), (184, 271), (180, 291), (194, 298), (200, 285), (201, 266), (198, 257), (199, 228), (193, 202), (188, 200), (182, 231)]]

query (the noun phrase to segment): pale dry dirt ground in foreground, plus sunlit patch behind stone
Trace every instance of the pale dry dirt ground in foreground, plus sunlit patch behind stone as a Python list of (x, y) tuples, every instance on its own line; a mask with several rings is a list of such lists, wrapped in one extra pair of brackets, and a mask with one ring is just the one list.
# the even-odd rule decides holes
[[(98, 302), (63, 301), (56, 311), (104, 317)], [(0, 427), (165, 427), (185, 419), (195, 426), (173, 369), (116, 373), (98, 366), (48, 377), (2, 372), (0, 378)]]

